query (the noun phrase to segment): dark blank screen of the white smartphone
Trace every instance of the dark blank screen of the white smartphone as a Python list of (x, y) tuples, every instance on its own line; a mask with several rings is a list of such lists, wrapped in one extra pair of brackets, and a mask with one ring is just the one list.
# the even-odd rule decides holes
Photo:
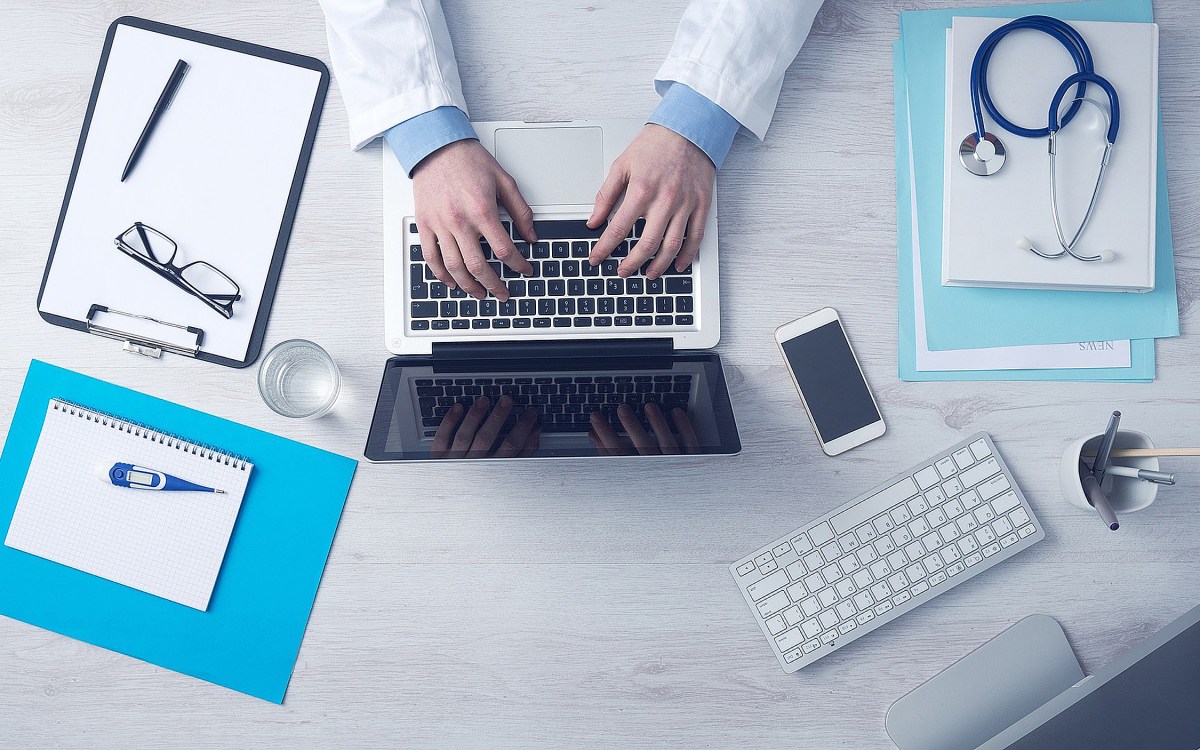
[(882, 419), (838, 320), (780, 343), (822, 443)]

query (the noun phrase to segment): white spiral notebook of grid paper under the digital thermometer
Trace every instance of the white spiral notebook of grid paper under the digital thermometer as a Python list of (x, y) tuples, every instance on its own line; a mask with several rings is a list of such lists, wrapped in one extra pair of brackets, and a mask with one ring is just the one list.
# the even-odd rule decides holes
[[(132, 463), (222, 490), (114, 486)], [(50, 400), (5, 545), (205, 611), (253, 469), (246, 460)]]

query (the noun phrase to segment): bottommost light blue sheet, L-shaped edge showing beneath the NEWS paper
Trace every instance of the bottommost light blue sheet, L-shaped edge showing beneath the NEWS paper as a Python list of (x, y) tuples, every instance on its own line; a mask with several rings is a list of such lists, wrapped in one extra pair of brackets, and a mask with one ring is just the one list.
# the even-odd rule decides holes
[(904, 68), (904, 46), (896, 41), (892, 48), (896, 127), (896, 240), (899, 250), (899, 374), (901, 380), (1109, 380), (1148, 383), (1154, 377), (1154, 340), (1134, 338), (1129, 342), (1129, 367), (1073, 370), (917, 370), (917, 323), (912, 276), (912, 190), (908, 163), (907, 84)]

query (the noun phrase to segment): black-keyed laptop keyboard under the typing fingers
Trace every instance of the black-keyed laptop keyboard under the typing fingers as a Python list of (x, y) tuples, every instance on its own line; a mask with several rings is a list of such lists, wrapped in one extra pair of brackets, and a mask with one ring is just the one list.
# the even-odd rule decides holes
[[(408, 221), (409, 238), (416, 224)], [(419, 244), (408, 246), (409, 328), (413, 331), (521, 330), (521, 329), (636, 329), (694, 328), (692, 269), (670, 266), (656, 280), (646, 278), (649, 262), (637, 275), (622, 278), (617, 266), (644, 229), (640, 220), (629, 238), (604, 263), (588, 263), (604, 227), (589, 229), (584, 221), (538, 221), (536, 242), (526, 242), (504, 221), (517, 251), (534, 272), (522, 276), (500, 263), (486, 244), (484, 256), (505, 284), (510, 298), (500, 302), (491, 294), (482, 300), (461, 288), (451, 289), (433, 275)]]

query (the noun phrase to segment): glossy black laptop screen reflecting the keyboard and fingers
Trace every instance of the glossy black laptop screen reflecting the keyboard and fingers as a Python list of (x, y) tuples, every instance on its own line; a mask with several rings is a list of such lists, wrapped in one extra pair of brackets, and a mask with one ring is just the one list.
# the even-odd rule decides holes
[(372, 461), (731, 455), (742, 449), (710, 353), (388, 361)]

